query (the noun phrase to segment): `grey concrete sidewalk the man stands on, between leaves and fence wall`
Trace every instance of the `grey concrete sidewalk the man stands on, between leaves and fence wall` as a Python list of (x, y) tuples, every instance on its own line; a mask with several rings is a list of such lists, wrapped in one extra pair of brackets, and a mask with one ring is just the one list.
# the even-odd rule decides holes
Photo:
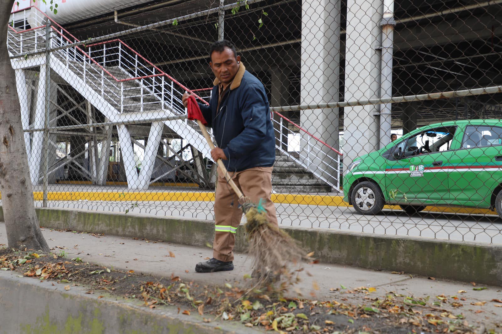
[[(90, 233), (51, 231), (47, 228), (43, 229), (43, 234), (53, 252), (64, 251), (68, 258), (78, 256), (89, 263), (123, 270), (132, 269), (157, 276), (171, 276), (174, 273), (185, 281), (201, 284), (242, 281), (243, 275), (252, 271), (246, 255), (236, 254), (233, 271), (196, 273), (195, 264), (211, 257), (211, 248), (196, 248), (158, 240), (134, 240), (109, 235), (93, 236)], [(6, 244), (5, 224), (0, 223), (0, 247)], [(173, 252), (175, 257), (170, 257), (169, 252)], [(392, 274), (333, 264), (307, 264), (305, 269), (302, 272), (302, 282), (298, 285), (305, 298), (336, 299), (345, 300), (345, 303), (350, 304), (364, 304), (367, 303), (367, 299), (363, 299), (365, 297), (363, 294), (349, 293), (351, 289), (361, 286), (376, 288), (376, 292), (371, 293), (371, 298), (385, 297), (394, 291), (415, 297), (430, 296), (432, 303), (438, 300), (436, 296), (444, 294), (448, 298), (452, 296), (465, 298), (461, 301), (463, 306), (454, 308), (450, 304), (442, 304), (440, 307), (451, 310), (453, 314), (464, 314), (470, 324), (483, 324), (486, 328), (494, 328), (497, 323), (502, 326), (502, 307), (495, 307), (497, 303), (491, 302), (493, 298), (502, 299), (501, 287), (487, 286), (485, 290), (475, 291), (468, 282), (431, 280), (427, 277), (410, 277), (406, 273)], [(307, 272), (311, 276), (307, 275)], [(315, 285), (318, 285), (318, 290), (314, 289)], [(341, 285), (346, 289), (341, 288)], [(476, 285), (476, 287), (481, 286), (484, 285)], [(338, 290), (332, 291), (337, 288)], [(459, 293), (459, 290), (466, 292)], [(295, 292), (290, 294), (292, 297), (299, 297)], [(482, 306), (471, 304), (478, 301), (486, 303)]]

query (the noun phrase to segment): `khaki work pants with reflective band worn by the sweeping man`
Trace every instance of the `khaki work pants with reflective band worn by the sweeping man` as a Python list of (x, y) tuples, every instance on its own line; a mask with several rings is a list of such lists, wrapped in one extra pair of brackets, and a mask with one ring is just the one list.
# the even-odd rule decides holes
[[(276, 208), (270, 199), (272, 195), (272, 167), (255, 167), (236, 173), (229, 173), (233, 182), (247, 196), (258, 203), (266, 201), (265, 209), (270, 223), (277, 224)], [(218, 168), (218, 184), (214, 199), (215, 233), (213, 257), (217, 260), (233, 261), (235, 232), (242, 218), (237, 195), (227, 184), (225, 176)]]

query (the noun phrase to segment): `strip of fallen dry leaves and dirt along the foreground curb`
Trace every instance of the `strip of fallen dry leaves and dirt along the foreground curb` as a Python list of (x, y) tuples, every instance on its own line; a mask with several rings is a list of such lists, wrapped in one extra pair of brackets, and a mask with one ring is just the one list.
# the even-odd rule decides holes
[(150, 308), (175, 305), (181, 314), (199, 314), (206, 322), (237, 320), (248, 327), (260, 326), (277, 332), (474, 332), (462, 314), (443, 309), (446, 297), (431, 302), (429, 298), (391, 292), (381, 299), (372, 297), (373, 288), (360, 287), (350, 291), (364, 295), (367, 302), (358, 305), (349, 304), (346, 298), (339, 301), (285, 298), (272, 288), (239, 287), (252, 285), (249, 277), (244, 277), (239, 286), (230, 283), (220, 287), (199, 286), (174, 275), (159, 279), (133, 270), (118, 271), (84, 263), (80, 258), (69, 260), (64, 253), (59, 255), (0, 250), (0, 269), (40, 280), (55, 280), (66, 284), (66, 290), (85, 284), (86, 289), (90, 288), (87, 293), (104, 290), (138, 298)]

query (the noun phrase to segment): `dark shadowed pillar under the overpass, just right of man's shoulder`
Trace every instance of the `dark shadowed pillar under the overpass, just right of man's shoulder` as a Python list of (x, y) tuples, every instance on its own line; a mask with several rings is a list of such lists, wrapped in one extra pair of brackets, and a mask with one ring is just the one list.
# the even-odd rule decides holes
[[(277, 67), (273, 67), (270, 69), (271, 73), (271, 99), (270, 106), (271, 107), (280, 107), (288, 105), (289, 101), (289, 76), (291, 74), (291, 68), (286, 67), (284, 64), (280, 64)], [(281, 112), (284, 116), (288, 117), (287, 114)], [(287, 122), (283, 120), (279, 115), (275, 114), (274, 117), (274, 128), (276, 135), (276, 146), (281, 145), (281, 147), (285, 150), (288, 149), (288, 131), (287, 131)], [(288, 117), (289, 118), (289, 117)], [(281, 124), (283, 127), (281, 128)], [(282, 135), (281, 135), (282, 132)]]

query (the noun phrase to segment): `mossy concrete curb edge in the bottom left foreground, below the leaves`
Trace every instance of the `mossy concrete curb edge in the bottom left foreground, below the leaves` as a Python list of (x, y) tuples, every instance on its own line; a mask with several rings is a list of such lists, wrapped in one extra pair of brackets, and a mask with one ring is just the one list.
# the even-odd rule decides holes
[[(205, 323), (202, 316), (178, 314), (176, 306), (150, 309), (137, 299), (123, 299), (104, 293), (85, 294), (85, 286), (17, 277), (17, 272), (0, 272), (0, 332), (11, 333), (260, 333), (237, 321)], [(104, 298), (98, 299), (100, 294)], [(27, 302), (29, 301), (29, 302)], [(23, 310), (20, 312), (19, 310)], [(185, 309), (185, 308), (184, 308)], [(186, 307), (186, 309), (189, 309)], [(29, 314), (29, 316), (27, 316)]]

